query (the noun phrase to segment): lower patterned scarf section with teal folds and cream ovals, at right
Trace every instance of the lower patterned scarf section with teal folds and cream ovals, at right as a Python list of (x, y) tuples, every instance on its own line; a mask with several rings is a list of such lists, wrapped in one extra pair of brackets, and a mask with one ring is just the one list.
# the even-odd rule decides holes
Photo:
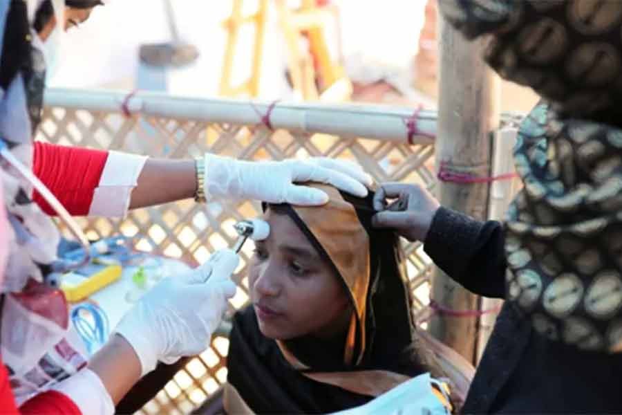
[(622, 129), (542, 102), (514, 158), (525, 187), (508, 214), (507, 298), (551, 340), (622, 351)]

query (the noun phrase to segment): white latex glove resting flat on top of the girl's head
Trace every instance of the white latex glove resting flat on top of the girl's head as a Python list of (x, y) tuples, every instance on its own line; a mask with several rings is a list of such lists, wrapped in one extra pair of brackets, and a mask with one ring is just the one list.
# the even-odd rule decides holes
[(328, 195), (294, 183), (328, 183), (354, 196), (367, 196), (372, 178), (346, 160), (244, 161), (205, 154), (205, 196), (254, 199), (268, 203), (323, 205)]

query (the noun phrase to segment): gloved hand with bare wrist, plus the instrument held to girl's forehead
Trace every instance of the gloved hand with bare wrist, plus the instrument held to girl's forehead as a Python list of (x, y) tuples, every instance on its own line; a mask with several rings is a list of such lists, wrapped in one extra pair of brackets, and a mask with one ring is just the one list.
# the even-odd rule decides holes
[[(270, 227), (253, 220), (238, 223), (236, 230), (240, 239), (234, 249), (215, 252), (185, 275), (162, 279), (123, 317), (109, 343), (91, 359), (91, 370), (57, 389), (78, 400), (75, 390), (80, 385), (101, 379), (111, 400), (118, 402), (158, 361), (170, 364), (207, 349), (227, 309), (227, 299), (236, 292), (230, 277), (238, 266), (237, 252), (249, 237), (265, 239)], [(97, 376), (90, 376), (93, 372)]]

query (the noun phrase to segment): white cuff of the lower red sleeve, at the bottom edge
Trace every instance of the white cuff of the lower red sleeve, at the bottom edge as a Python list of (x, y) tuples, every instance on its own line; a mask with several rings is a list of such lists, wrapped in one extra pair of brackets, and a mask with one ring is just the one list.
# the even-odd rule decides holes
[(68, 396), (83, 415), (111, 415), (115, 405), (106, 391), (102, 380), (91, 369), (83, 369), (77, 374), (54, 385), (52, 390)]

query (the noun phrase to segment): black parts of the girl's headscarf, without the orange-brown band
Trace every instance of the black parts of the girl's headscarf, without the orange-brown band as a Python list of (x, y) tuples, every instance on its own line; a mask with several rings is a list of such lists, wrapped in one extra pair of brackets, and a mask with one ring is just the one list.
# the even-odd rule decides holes
[[(366, 348), (360, 364), (353, 367), (344, 367), (339, 357), (334, 358), (334, 353), (326, 351), (326, 356), (322, 357), (326, 357), (331, 367), (321, 365), (321, 371), (382, 370), (408, 377), (429, 371), (428, 365), (424, 363), (426, 359), (416, 355), (413, 358), (411, 345), (415, 329), (411, 293), (398, 239), (393, 232), (376, 230), (371, 226), (371, 218), (375, 213), (371, 203), (373, 195), (366, 199), (346, 194), (342, 196), (355, 208), (357, 218), (370, 241)], [(294, 220), (320, 255), (328, 260), (326, 252), (321, 249), (321, 241), (315, 239), (294, 208), (279, 205), (278, 209)], [(330, 216), (326, 220), (330, 221)], [(261, 334), (252, 306), (236, 313), (229, 340), (229, 385), (236, 389), (255, 413), (335, 412), (364, 405), (373, 398), (317, 382), (294, 369), (283, 357), (278, 344)], [(343, 338), (335, 339), (334, 342), (343, 342)], [(323, 346), (328, 349), (332, 344)], [(343, 350), (339, 347), (332, 349)]]

